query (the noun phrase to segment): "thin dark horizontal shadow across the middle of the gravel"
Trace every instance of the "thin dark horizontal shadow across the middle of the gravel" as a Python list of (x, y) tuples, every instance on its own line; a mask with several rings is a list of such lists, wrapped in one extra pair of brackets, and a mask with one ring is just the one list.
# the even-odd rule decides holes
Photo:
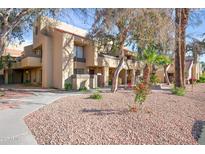
[(83, 109), (80, 112), (82, 113), (91, 113), (91, 115), (111, 115), (111, 114), (118, 114), (123, 115), (129, 113), (128, 109), (124, 110), (113, 110), (113, 109)]

